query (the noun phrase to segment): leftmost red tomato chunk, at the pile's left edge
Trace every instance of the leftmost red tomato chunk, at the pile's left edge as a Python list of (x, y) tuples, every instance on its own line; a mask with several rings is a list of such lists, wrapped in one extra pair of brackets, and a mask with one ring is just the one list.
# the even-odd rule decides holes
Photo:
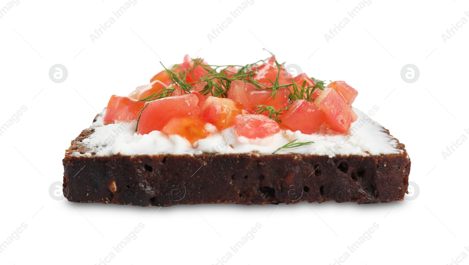
[(136, 120), (144, 108), (144, 103), (144, 101), (136, 101), (129, 97), (112, 95), (107, 103), (104, 121), (114, 123), (115, 121)]

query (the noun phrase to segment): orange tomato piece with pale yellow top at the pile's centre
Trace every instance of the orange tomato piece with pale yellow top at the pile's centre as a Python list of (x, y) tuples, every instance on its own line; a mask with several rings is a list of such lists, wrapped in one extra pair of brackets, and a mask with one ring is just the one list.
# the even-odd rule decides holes
[(225, 125), (225, 119), (233, 109), (242, 110), (242, 104), (230, 99), (208, 97), (200, 111), (200, 117), (209, 123), (222, 129)]

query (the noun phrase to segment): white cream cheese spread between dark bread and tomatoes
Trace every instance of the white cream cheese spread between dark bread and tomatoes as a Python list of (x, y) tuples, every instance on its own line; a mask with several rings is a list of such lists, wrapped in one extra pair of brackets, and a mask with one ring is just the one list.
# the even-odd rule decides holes
[[(313, 141), (313, 144), (297, 148), (283, 148), (275, 154), (301, 154), (333, 157), (335, 155), (387, 155), (398, 154), (397, 140), (393, 139), (377, 122), (358, 109), (356, 122), (352, 123), (347, 134), (338, 133), (322, 125), (313, 134), (300, 131), (280, 130), (277, 134), (263, 139), (237, 137), (234, 127), (215, 132), (214, 126), (207, 125), (206, 130), (214, 132), (211, 136), (197, 140), (193, 145), (179, 135), (153, 131), (149, 134), (135, 132), (136, 121), (104, 125), (105, 111), (91, 125), (94, 132), (83, 144), (90, 148), (88, 153), (72, 153), (73, 156), (134, 156), (157, 154), (233, 154), (253, 153), (270, 155), (295, 139), (296, 142)], [(307, 121), (306, 121), (307, 122)]]

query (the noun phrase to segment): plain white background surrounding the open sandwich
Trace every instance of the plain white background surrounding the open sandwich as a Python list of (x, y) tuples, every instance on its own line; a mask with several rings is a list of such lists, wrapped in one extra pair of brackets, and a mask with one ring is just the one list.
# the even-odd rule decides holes
[[(0, 8), (7, 4), (0, 1)], [(462, 0), (376, 1), (333, 39), (324, 34), (359, 3), (345, 0), (254, 0), (212, 42), (207, 34), (242, 1), (143, 1), (131, 6), (93, 43), (90, 34), (121, 1), (20, 0), (0, 19), (0, 124), (26, 106), (0, 136), (0, 242), (22, 223), (1, 264), (94, 265), (139, 223), (144, 229), (111, 264), (214, 264), (260, 223), (228, 264), (332, 264), (374, 223), (371, 239), (346, 264), (469, 264), (466, 134), (469, 23), (446, 43), (441, 34), (461, 17)], [(345, 80), (367, 111), (406, 145), (415, 200), (376, 205), (180, 205), (167, 208), (69, 203), (48, 189), (63, 176), (62, 158), (111, 94), (127, 95), (185, 54), (211, 64), (246, 64), (266, 48), (319, 79)], [(65, 82), (48, 71), (61, 63)], [(405, 83), (401, 68), (419, 79)], [(155, 211), (158, 210), (156, 213)], [(272, 212), (273, 211), (273, 212)], [(115, 253), (115, 251), (114, 251)], [(465, 257), (465, 256), (464, 256)], [(109, 259), (107, 259), (109, 261)], [(337, 263), (336, 263), (337, 264)]]

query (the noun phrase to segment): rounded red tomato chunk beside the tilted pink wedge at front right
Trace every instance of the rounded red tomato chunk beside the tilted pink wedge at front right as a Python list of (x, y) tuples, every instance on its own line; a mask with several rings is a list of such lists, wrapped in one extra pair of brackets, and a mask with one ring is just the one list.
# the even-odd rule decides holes
[(325, 114), (312, 101), (297, 100), (279, 115), (280, 126), (293, 132), (311, 134), (325, 122)]

